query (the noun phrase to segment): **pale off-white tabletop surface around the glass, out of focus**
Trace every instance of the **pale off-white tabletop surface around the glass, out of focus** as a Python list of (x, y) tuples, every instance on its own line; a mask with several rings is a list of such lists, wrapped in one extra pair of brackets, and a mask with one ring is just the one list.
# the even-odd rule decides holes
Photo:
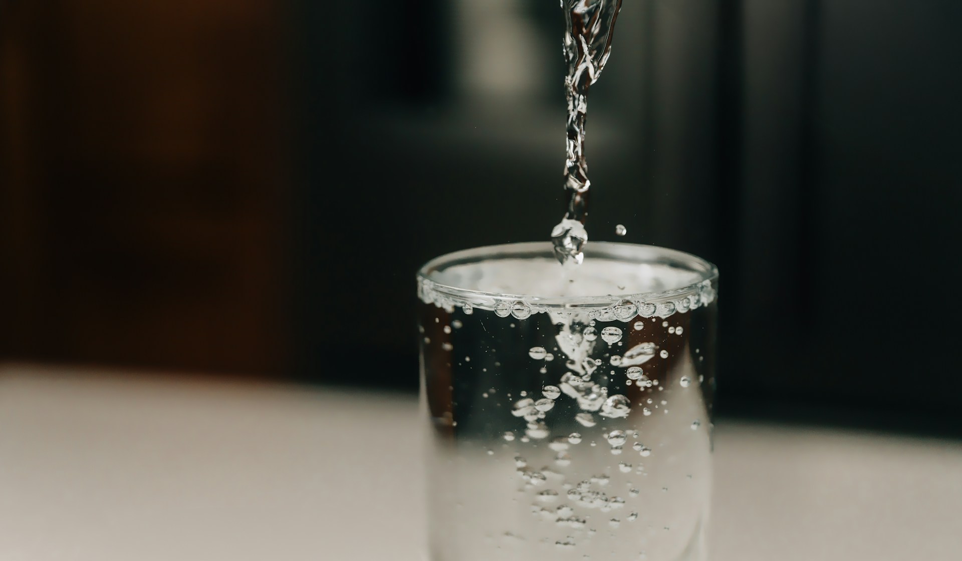
[[(0, 365), (0, 560), (422, 561), (419, 426), (409, 396)], [(716, 436), (713, 561), (962, 559), (962, 443)]]

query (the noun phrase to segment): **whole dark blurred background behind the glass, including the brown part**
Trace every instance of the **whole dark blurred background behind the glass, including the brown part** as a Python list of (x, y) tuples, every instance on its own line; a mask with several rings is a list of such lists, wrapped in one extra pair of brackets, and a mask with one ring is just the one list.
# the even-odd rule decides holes
[[(722, 269), (722, 413), (958, 430), (960, 24), (625, 2), (589, 231)], [(562, 25), (552, 0), (0, 2), (0, 359), (415, 390), (418, 266), (562, 213)]]

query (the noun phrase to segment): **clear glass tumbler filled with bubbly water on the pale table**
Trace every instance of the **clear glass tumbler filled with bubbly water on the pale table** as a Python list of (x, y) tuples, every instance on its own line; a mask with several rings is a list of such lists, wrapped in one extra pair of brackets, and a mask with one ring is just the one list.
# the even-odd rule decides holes
[(628, 243), (421, 268), (431, 561), (703, 559), (717, 282)]

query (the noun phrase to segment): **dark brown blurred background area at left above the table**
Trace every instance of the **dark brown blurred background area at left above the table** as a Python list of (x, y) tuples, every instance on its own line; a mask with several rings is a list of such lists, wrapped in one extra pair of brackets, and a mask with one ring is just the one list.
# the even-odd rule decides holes
[(0, 4), (0, 359), (289, 366), (283, 4)]

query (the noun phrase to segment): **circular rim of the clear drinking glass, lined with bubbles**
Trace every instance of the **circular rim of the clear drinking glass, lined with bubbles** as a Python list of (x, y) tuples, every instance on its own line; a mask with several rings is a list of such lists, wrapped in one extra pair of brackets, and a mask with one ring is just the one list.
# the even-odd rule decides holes
[[(698, 280), (682, 287), (644, 293), (597, 294), (589, 296), (543, 296), (538, 294), (489, 293), (443, 284), (431, 278), (445, 268), (486, 260), (519, 257), (550, 257), (554, 259), (550, 242), (514, 242), (485, 245), (446, 253), (428, 261), (418, 269), (418, 297), (439, 307), (453, 310), (455, 306), (494, 310), (499, 305), (527, 306), (530, 312), (552, 312), (613, 307), (634, 304), (639, 315), (666, 316), (674, 312), (705, 305), (715, 299), (712, 284), (718, 280), (719, 270), (712, 263), (691, 253), (640, 243), (591, 242), (585, 246), (586, 259), (615, 259), (639, 265), (662, 262), (695, 272)], [(650, 314), (645, 314), (651, 308)], [(661, 308), (660, 310), (657, 308)], [(671, 311), (669, 312), (669, 309)], [(624, 315), (624, 314), (622, 314)], [(632, 315), (633, 317), (633, 315)], [(614, 318), (613, 318), (614, 319)]]

